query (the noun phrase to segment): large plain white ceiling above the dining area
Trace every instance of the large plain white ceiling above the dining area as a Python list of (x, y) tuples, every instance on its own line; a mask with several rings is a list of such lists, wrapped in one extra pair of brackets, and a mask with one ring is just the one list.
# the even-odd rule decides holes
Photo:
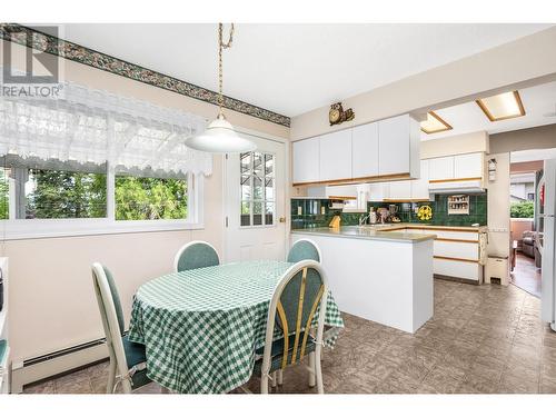
[[(549, 24), (236, 24), (225, 93), (292, 117)], [(217, 26), (70, 23), (60, 37), (217, 90)]]

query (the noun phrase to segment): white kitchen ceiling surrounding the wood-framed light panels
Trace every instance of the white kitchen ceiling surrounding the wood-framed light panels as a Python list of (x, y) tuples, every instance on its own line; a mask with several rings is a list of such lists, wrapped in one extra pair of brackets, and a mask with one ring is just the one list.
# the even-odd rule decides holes
[(525, 108), (523, 117), (490, 121), (479, 106), (475, 101), (470, 101), (435, 110), (453, 129), (431, 135), (421, 131), (421, 140), (440, 139), (480, 130), (488, 133), (499, 133), (556, 123), (556, 117), (545, 116), (556, 111), (556, 82), (522, 89), (518, 92)]

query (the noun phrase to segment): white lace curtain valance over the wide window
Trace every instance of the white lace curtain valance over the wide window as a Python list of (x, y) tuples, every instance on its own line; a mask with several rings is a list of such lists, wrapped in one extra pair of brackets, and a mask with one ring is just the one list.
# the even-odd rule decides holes
[(205, 130), (205, 119), (71, 82), (62, 91), (59, 99), (0, 100), (0, 156), (212, 172), (210, 153), (183, 145)]

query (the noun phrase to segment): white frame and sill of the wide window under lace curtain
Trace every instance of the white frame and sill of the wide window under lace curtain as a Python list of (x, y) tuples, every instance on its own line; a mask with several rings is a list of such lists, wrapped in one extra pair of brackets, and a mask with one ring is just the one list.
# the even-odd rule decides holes
[(175, 230), (199, 230), (205, 228), (202, 175), (187, 175), (188, 216), (186, 219), (116, 220), (116, 172), (107, 162), (107, 217), (82, 219), (16, 219), (14, 180), (9, 179), (10, 218), (0, 220), (3, 240), (54, 238), (71, 236), (113, 235)]

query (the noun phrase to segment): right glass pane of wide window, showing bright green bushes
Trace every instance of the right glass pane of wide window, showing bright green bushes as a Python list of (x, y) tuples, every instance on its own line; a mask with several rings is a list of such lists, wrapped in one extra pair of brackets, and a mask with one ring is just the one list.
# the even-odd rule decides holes
[(116, 220), (187, 217), (187, 179), (116, 176)]

